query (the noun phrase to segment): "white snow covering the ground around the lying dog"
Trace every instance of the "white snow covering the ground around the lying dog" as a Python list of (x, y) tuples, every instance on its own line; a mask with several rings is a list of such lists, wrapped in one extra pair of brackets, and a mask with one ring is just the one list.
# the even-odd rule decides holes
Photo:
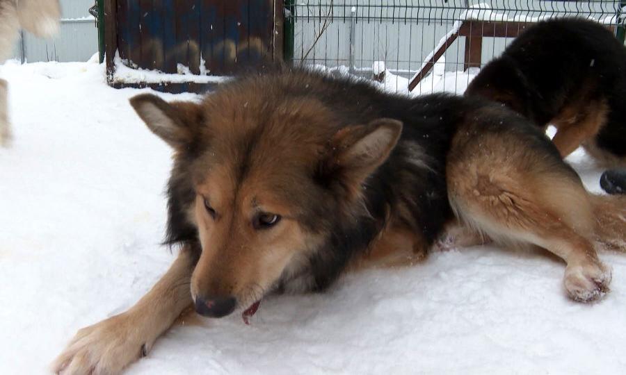
[[(131, 306), (161, 247), (170, 151), (97, 63), (9, 62), (15, 140), (0, 149), (0, 373), (42, 374), (77, 329)], [(166, 99), (191, 99), (191, 94)], [(570, 158), (593, 191), (600, 171)], [(546, 187), (549, 188), (549, 187)], [(612, 292), (565, 297), (563, 265), (474, 247), (175, 326), (128, 374), (624, 374), (626, 256)]]

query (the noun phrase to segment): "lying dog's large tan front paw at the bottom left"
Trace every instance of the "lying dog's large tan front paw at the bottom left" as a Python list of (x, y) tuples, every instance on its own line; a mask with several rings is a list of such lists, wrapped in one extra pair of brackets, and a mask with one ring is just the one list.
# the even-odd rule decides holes
[(82, 328), (51, 365), (55, 374), (118, 374), (146, 355), (141, 328), (129, 313)]

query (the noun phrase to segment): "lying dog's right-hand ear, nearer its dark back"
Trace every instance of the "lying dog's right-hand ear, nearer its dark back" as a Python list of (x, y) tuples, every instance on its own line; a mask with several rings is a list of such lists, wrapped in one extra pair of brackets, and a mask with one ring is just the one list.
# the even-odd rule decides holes
[(324, 169), (341, 179), (349, 190), (358, 189), (376, 168), (385, 163), (402, 133), (395, 119), (376, 119), (367, 125), (348, 126), (330, 140), (330, 156)]

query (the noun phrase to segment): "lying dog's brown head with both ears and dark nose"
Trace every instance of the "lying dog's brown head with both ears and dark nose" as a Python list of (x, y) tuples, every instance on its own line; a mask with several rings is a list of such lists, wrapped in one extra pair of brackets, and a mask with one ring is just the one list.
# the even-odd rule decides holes
[(131, 99), (175, 150), (170, 231), (197, 231), (202, 253), (191, 294), (198, 313), (210, 317), (246, 308), (290, 281), (312, 288), (305, 276), (311, 259), (337, 220), (364, 209), (361, 185), (401, 133), (392, 119), (342, 126), (315, 99), (239, 89), (202, 103)]

